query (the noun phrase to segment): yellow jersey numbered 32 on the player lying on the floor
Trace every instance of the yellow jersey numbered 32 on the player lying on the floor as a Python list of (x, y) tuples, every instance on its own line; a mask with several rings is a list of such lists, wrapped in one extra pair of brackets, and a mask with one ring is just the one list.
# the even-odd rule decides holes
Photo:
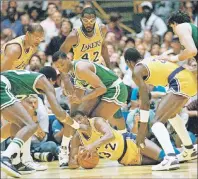
[[(86, 137), (81, 132), (78, 131), (81, 142), (85, 146), (95, 142), (96, 140), (100, 139), (103, 136), (102, 133), (98, 132), (95, 129), (94, 120), (97, 119), (96, 118), (89, 119), (92, 128), (91, 136)], [(124, 139), (123, 136), (118, 131), (114, 129), (112, 129), (112, 131), (115, 138), (112, 141), (98, 147), (97, 153), (101, 157), (108, 158), (110, 160), (118, 160), (124, 151)]]

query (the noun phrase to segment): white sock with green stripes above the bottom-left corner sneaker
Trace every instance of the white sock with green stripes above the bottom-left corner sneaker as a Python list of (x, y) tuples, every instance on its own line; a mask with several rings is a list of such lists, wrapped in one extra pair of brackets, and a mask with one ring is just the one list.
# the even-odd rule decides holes
[(2, 155), (11, 158), (13, 154), (17, 153), (17, 156), (20, 158), (20, 150), (23, 144), (23, 140), (14, 138)]

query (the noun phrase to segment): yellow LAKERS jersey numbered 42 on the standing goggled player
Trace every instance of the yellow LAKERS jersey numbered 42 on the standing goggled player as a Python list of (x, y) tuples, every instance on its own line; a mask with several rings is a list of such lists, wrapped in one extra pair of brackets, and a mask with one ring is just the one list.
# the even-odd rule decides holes
[(87, 37), (82, 28), (77, 29), (78, 44), (73, 46), (74, 60), (84, 59), (102, 63), (101, 50), (104, 37), (98, 24), (95, 24), (94, 29), (92, 37)]

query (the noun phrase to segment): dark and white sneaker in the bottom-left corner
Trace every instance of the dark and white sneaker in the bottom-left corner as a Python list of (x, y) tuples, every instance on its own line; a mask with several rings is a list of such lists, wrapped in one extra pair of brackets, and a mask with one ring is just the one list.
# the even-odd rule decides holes
[(1, 169), (11, 177), (21, 177), (21, 173), (12, 165), (12, 162), (8, 157), (1, 156)]

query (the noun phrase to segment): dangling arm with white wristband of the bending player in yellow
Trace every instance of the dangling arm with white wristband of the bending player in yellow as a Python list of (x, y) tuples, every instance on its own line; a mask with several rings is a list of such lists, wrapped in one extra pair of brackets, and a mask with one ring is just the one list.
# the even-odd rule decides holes
[[(136, 144), (138, 147), (144, 147), (144, 140), (147, 134), (147, 123), (149, 120), (149, 91), (143, 78), (148, 73), (143, 65), (138, 65), (134, 68), (133, 80), (139, 87), (140, 105), (140, 127), (138, 129)], [(148, 75), (148, 74), (147, 74)]]

